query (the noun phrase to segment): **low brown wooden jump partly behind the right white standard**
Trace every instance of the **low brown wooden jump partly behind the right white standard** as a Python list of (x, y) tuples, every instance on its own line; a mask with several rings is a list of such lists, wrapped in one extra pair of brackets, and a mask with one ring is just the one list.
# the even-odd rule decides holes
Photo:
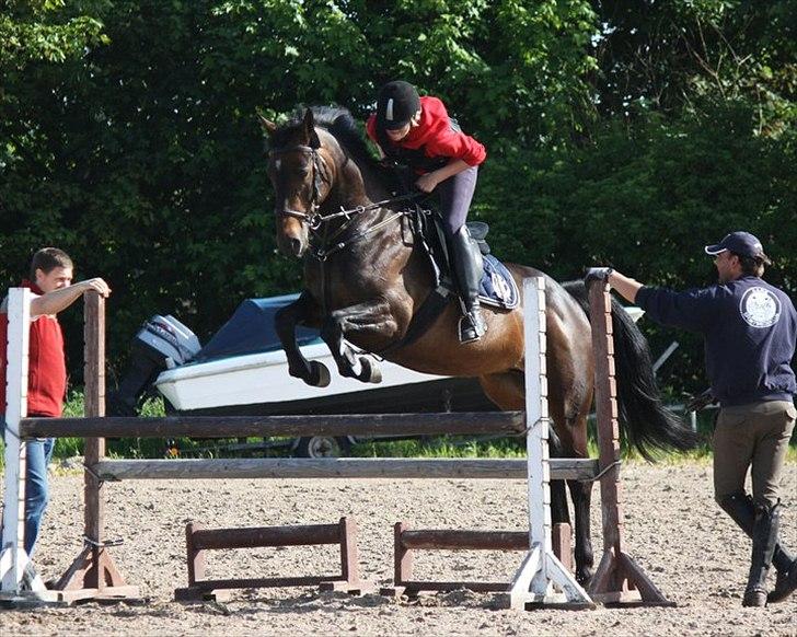
[[(409, 529), (407, 522), (396, 522), (394, 537), (394, 576), (392, 587), (380, 589), (389, 597), (415, 597), (425, 591), (470, 589), (476, 592), (509, 593), (511, 582), (429, 581), (413, 578), (414, 551), (529, 551), (528, 531), (460, 531)], [(573, 571), (570, 558), (570, 525), (553, 525), (554, 554)]]

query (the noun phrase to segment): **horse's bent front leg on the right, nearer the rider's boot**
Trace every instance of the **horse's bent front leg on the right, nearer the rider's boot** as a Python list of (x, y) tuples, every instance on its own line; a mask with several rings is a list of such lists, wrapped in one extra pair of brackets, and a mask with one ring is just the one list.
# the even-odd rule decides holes
[(330, 346), (340, 375), (363, 383), (379, 383), (382, 372), (377, 361), (373, 357), (356, 352), (346, 338), (350, 335), (391, 338), (397, 329), (390, 305), (385, 301), (373, 301), (332, 312), (324, 319), (321, 338)]

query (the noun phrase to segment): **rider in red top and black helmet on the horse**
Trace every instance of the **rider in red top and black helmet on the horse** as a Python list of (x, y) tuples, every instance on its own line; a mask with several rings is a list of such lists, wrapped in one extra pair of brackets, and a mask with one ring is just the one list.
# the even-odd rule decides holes
[(451, 119), (437, 97), (420, 97), (407, 82), (389, 82), (379, 91), (377, 112), (366, 125), (383, 157), (411, 167), (415, 186), (439, 193), (454, 276), (464, 303), (460, 340), (478, 340), (487, 329), (478, 288), (482, 264), (465, 220), (476, 188), (478, 165), (487, 152)]

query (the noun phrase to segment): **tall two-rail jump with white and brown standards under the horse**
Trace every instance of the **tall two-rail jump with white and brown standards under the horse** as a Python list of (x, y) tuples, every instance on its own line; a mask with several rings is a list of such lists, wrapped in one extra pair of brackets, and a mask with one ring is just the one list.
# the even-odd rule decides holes
[[(534, 288), (534, 286), (540, 286)], [(96, 293), (85, 294), (85, 415), (83, 419), (24, 418), (27, 382), (27, 325), (30, 292), (15, 289), (10, 292), (9, 306), (9, 399), (7, 409), (5, 448), (5, 508), (3, 513), (2, 553), (0, 554), (0, 601), (39, 601), (138, 597), (135, 587), (125, 584), (116, 569), (106, 543), (103, 541), (104, 498), (102, 487), (111, 479), (145, 479), (153, 477), (528, 477), (529, 484), (529, 551), (506, 593), (506, 604), (512, 607), (532, 607), (536, 604), (566, 607), (590, 605), (591, 599), (573, 579), (554, 553), (550, 511), (550, 479), (594, 479), (600, 476), (603, 506), (604, 553), (592, 580), (590, 592), (603, 603), (634, 603), (670, 605), (647, 579), (645, 574), (623, 551), (623, 517), (620, 503), (620, 437), (614, 381), (611, 332), (611, 303), (609, 286), (592, 285), (590, 306), (592, 339), (596, 351), (596, 403), (600, 441), (598, 467), (593, 460), (561, 460), (548, 458), (547, 385), (544, 339), (544, 279), (524, 281), (525, 343), (527, 343), (527, 406), (525, 415), (478, 414), (461, 420), (461, 414), (450, 415), (384, 415), (365, 420), (344, 417), (274, 418), (158, 418), (106, 419), (104, 416), (104, 300)], [(533, 291), (532, 291), (533, 290)], [(531, 308), (531, 309), (530, 309)], [(13, 367), (12, 367), (13, 366)], [(287, 418), (279, 421), (280, 418)], [(359, 417), (358, 417), (359, 418)], [(345, 425), (344, 425), (345, 419)], [(411, 421), (414, 420), (415, 422)], [(424, 421), (420, 422), (419, 421)], [(129, 425), (129, 427), (128, 427)], [(113, 426), (113, 429), (109, 427)], [(285, 435), (322, 431), (326, 435), (346, 433), (527, 433), (527, 461), (437, 461), (417, 460), (355, 460), (293, 461), (301, 464), (246, 464), (240, 461), (111, 461), (104, 460), (104, 436), (265, 436), (272, 428), (287, 427)], [(220, 430), (222, 427), (223, 430)], [(84, 473), (84, 537), (85, 548), (60, 579), (59, 591), (44, 590), (44, 583), (22, 548), (24, 533), (25, 437), (26, 436), (86, 436)], [(521, 464), (527, 465), (522, 472)], [(278, 474), (278, 472), (281, 472)], [(434, 474), (434, 475), (430, 475)], [(499, 532), (494, 534), (494, 540)], [(495, 535), (498, 533), (498, 535)], [(412, 536), (408, 536), (412, 537)], [(408, 540), (412, 544), (412, 540)], [(499, 541), (496, 541), (500, 543)], [(28, 567), (30, 568), (26, 568)], [(31, 575), (32, 574), (32, 575)], [(404, 575), (402, 575), (404, 577)], [(408, 576), (411, 577), (411, 576)], [(238, 580), (246, 581), (246, 580)], [(412, 581), (412, 580), (408, 580)], [(504, 584), (501, 584), (504, 586)], [(25, 591), (25, 588), (31, 589)], [(55, 595), (55, 597), (54, 597)]]

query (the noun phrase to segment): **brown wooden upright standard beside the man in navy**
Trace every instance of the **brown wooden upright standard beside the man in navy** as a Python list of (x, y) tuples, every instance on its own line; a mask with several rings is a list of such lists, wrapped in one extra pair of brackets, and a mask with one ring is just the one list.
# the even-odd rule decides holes
[(610, 290), (608, 283), (599, 281), (589, 286), (603, 512), (603, 556), (589, 592), (593, 600), (604, 604), (674, 606), (623, 548), (620, 421)]

